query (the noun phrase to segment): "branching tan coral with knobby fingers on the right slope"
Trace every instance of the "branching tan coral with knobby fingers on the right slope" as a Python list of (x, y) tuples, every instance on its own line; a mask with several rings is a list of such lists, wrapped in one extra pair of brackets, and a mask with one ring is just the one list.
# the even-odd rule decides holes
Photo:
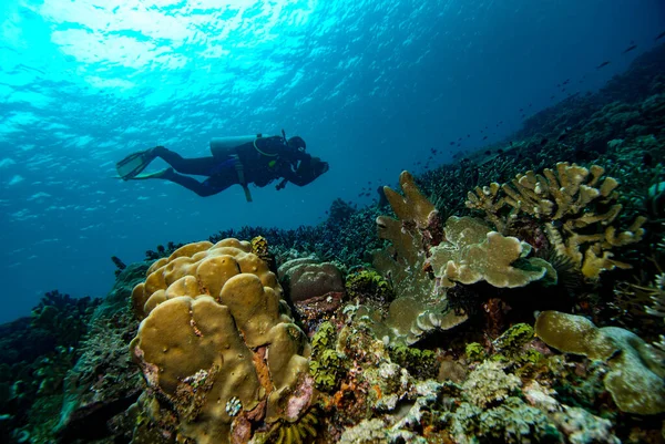
[(518, 174), (510, 183), (492, 183), (469, 192), (467, 207), (483, 210), (499, 231), (505, 231), (521, 215), (543, 223), (550, 242), (569, 257), (582, 273), (597, 279), (603, 270), (630, 268), (613, 259), (613, 248), (637, 242), (644, 236), (645, 217), (637, 216), (624, 230), (616, 226), (623, 205), (618, 180), (603, 177), (598, 165), (585, 168), (560, 162), (543, 174)]

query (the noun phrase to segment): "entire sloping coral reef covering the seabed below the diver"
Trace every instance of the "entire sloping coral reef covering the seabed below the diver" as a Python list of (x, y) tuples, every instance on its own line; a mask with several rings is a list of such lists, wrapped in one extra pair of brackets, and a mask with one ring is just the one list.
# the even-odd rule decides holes
[(52, 293), (0, 326), (0, 441), (662, 443), (664, 54), (386, 203)]

